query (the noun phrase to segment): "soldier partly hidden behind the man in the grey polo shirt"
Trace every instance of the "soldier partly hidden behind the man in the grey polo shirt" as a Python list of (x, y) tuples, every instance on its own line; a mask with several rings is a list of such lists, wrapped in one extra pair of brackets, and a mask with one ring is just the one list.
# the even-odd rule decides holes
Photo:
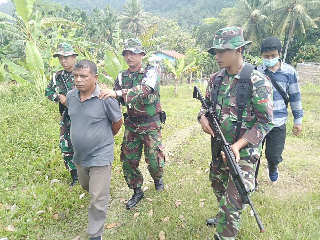
[[(62, 70), (53, 74), (47, 88), (45, 96), (56, 103), (59, 103), (60, 118), (60, 148), (63, 156), (63, 162), (72, 176), (70, 186), (74, 186), (78, 181), (76, 166), (72, 163), (73, 147), (70, 141), (70, 117), (67, 110), (66, 95), (67, 92), (75, 88), (73, 66), (78, 54), (73, 50), (72, 46), (67, 43), (61, 43), (57, 46), (57, 51), (52, 55), (58, 57)], [(67, 88), (60, 77), (63, 77)]]

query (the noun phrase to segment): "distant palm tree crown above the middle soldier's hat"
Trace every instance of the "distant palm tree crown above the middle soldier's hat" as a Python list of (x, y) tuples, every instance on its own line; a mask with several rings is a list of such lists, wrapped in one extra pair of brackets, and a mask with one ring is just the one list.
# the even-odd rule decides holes
[(148, 28), (148, 20), (151, 19), (151, 13), (145, 12), (140, 0), (129, 0), (122, 10), (123, 14), (119, 17), (124, 29), (133, 31), (135, 37)]

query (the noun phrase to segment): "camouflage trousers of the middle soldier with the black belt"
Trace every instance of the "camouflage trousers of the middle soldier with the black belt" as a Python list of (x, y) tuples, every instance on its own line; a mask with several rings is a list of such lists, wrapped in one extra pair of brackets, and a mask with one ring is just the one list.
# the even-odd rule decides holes
[(124, 179), (129, 188), (140, 188), (143, 184), (143, 176), (138, 168), (142, 155), (142, 145), (151, 177), (153, 179), (162, 178), (165, 156), (161, 144), (160, 128), (143, 134), (126, 129), (121, 147), (120, 161), (123, 162)]

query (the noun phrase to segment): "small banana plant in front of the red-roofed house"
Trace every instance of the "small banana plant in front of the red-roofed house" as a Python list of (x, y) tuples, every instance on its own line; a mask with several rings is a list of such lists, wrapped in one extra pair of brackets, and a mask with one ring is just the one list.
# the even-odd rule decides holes
[[(162, 60), (162, 63), (168, 69), (168, 71), (175, 76), (174, 95), (177, 95), (178, 79), (180, 79), (186, 73), (191, 73), (192, 71), (196, 70), (198, 67), (198, 66), (195, 66), (196, 61), (192, 61), (187, 66), (184, 66), (184, 62), (185, 62), (185, 58), (181, 58), (178, 61), (179, 64), (177, 68), (174, 68), (172, 63), (169, 61), (169, 59), (165, 58)], [(190, 82), (191, 82), (191, 79), (190, 79)]]

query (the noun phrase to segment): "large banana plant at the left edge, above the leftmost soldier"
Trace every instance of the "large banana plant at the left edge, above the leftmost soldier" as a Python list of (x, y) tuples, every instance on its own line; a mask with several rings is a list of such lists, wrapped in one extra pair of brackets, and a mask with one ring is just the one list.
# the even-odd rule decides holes
[[(46, 77), (43, 76), (49, 75), (52, 49), (57, 43), (62, 42), (62, 33), (71, 33), (74, 28), (84, 26), (63, 18), (41, 19), (41, 12), (36, 11), (32, 14), (34, 0), (13, 0), (12, 3), (16, 8), (16, 18), (0, 12), (0, 19), (3, 20), (0, 21), (0, 33), (12, 36), (12, 39), (15, 40), (10, 41), (10, 45), (12, 48), (20, 46), (24, 49), (24, 55), (15, 59), (14, 62), (2, 56), (0, 82), (15, 80), (20, 84), (29, 84), (34, 81), (36, 88), (43, 89), (46, 82)], [(65, 29), (62, 29), (61, 26), (64, 26)], [(49, 33), (44, 35), (44, 32)], [(63, 42), (87, 45), (87, 43), (73, 39), (63, 39)], [(58, 66), (58, 62), (54, 63), (53, 66)]]

